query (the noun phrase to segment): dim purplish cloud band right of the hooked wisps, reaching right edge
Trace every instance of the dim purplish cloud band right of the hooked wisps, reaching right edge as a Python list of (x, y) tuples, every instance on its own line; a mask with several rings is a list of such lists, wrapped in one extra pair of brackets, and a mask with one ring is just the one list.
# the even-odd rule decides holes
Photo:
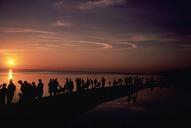
[(191, 35), (178, 35), (173, 32), (169, 33), (153, 33), (153, 34), (120, 34), (119, 38), (127, 42), (134, 42), (139, 48), (153, 49), (171, 49), (174, 51), (190, 52), (191, 51)]

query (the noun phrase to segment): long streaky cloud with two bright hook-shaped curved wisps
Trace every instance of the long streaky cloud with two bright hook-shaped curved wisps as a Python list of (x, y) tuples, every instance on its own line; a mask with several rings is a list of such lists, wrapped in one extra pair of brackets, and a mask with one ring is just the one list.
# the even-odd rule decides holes
[[(128, 40), (105, 40), (105, 39), (92, 39), (92, 40), (66, 40), (60, 36), (44, 36), (39, 35), (38, 41), (42, 43), (43, 46), (48, 48), (71, 48), (71, 49), (110, 49), (110, 50), (124, 50), (124, 49), (135, 49), (137, 44), (130, 42)], [(41, 40), (42, 39), (42, 40)], [(31, 44), (30, 46), (39, 47), (39, 43)]]

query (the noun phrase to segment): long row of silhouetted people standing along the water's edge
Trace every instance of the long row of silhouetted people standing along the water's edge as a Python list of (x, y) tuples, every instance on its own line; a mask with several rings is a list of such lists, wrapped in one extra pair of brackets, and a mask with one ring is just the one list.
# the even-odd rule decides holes
[[(19, 101), (22, 103), (30, 103), (35, 99), (40, 99), (43, 96), (44, 84), (41, 79), (38, 80), (38, 84), (35, 82), (29, 83), (27, 81), (18, 81), (20, 85)], [(72, 79), (66, 78), (63, 85), (60, 85), (57, 79), (50, 79), (48, 83), (48, 92), (50, 96), (60, 95), (60, 94), (71, 94), (74, 92), (74, 86), (76, 86), (76, 92), (80, 93), (85, 90), (104, 88), (106, 84), (106, 79), (102, 77), (100, 80), (97, 78), (76, 78), (75, 85)], [(113, 82), (108, 82), (110, 87), (127, 86), (128, 87), (128, 102), (135, 102), (138, 90), (142, 87), (153, 88), (154, 78), (148, 78), (146, 81), (143, 77), (132, 77), (128, 76), (124, 79), (119, 78), (113, 80)], [(143, 86), (145, 85), (145, 86)], [(0, 104), (5, 104), (5, 99), (7, 97), (7, 104), (10, 104), (13, 100), (16, 86), (13, 81), (10, 80), (8, 86), (4, 83), (0, 85)], [(133, 94), (133, 95), (132, 95)]]

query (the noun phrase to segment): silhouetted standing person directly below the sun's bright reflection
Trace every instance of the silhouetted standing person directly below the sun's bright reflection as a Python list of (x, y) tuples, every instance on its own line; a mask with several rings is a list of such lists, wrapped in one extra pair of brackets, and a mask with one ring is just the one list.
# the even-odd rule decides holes
[(10, 104), (13, 100), (15, 94), (16, 86), (13, 83), (13, 80), (9, 81), (9, 85), (7, 87), (7, 104)]

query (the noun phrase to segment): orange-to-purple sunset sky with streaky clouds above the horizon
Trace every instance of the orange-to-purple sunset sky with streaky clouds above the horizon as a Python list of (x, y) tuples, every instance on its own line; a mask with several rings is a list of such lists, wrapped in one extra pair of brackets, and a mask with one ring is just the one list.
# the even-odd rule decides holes
[(0, 0), (0, 68), (152, 72), (191, 65), (186, 0)]

